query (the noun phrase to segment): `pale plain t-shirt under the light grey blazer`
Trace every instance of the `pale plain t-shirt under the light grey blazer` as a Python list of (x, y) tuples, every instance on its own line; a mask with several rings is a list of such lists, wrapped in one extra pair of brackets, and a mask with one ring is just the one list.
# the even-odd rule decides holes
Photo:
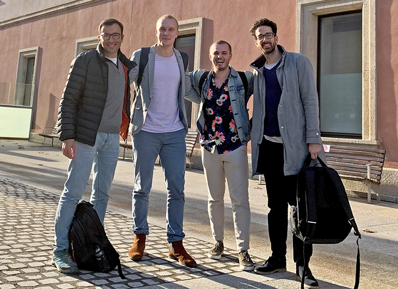
[(142, 130), (161, 133), (184, 128), (178, 104), (180, 83), (176, 55), (161, 57), (156, 54), (152, 97)]

